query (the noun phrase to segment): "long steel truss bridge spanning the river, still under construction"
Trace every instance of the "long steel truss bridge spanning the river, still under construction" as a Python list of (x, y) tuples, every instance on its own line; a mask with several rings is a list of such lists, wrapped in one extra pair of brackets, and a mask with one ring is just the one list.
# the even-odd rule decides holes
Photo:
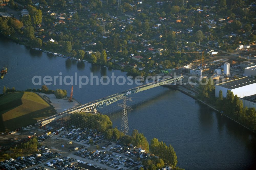
[(95, 100), (83, 105), (80, 105), (78, 107), (75, 108), (71, 108), (70, 110), (67, 110), (65, 112), (62, 113), (58, 113), (55, 115), (52, 115), (50, 117), (38, 120), (37, 123), (40, 125), (40, 127), (45, 126), (46, 124), (55, 121), (55, 120), (59, 120), (59, 119), (63, 119), (63, 117), (65, 116), (69, 116), (72, 113), (77, 113), (77, 112), (96, 112), (97, 110), (99, 110), (100, 108), (110, 105), (118, 100), (123, 99), (125, 96), (128, 96), (130, 94), (134, 94), (134, 93), (138, 93), (144, 90), (148, 90), (154, 87), (158, 87), (158, 86), (162, 86), (162, 85), (168, 85), (171, 83), (176, 83), (178, 81), (182, 80), (183, 76), (176, 76), (176, 77), (169, 77), (166, 79), (158, 79), (157, 81), (154, 81), (152, 83), (149, 84), (145, 84), (142, 86), (138, 86), (129, 90), (125, 90), (121, 93), (116, 93), (113, 95), (110, 95), (108, 97), (99, 99), (99, 100)]

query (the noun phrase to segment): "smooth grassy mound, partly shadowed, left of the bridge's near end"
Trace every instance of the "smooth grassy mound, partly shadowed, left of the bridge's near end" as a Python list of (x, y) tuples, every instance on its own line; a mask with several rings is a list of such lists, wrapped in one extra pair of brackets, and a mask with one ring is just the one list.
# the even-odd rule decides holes
[(47, 102), (33, 92), (5, 94), (0, 98), (0, 131), (11, 131), (55, 114)]

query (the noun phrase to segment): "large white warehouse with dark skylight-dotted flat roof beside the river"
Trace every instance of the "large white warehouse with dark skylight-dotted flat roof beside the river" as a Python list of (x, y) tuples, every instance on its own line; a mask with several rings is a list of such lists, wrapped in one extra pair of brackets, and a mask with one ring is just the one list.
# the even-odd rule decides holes
[(226, 81), (215, 85), (215, 96), (219, 97), (219, 91), (222, 91), (223, 97), (226, 98), (228, 90), (239, 98), (256, 94), (256, 78), (242, 77), (235, 80)]

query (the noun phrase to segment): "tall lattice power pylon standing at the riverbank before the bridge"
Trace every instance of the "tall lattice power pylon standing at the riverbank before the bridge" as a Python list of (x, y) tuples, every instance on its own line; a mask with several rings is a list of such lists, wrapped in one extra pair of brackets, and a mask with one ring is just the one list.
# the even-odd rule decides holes
[(122, 96), (122, 99), (123, 99), (123, 104), (119, 104), (119, 103), (117, 104), (118, 106), (123, 107), (121, 131), (124, 132), (124, 135), (129, 135), (127, 109), (132, 110), (132, 108), (126, 105), (126, 100), (132, 101), (132, 98), (127, 98), (126, 96)]

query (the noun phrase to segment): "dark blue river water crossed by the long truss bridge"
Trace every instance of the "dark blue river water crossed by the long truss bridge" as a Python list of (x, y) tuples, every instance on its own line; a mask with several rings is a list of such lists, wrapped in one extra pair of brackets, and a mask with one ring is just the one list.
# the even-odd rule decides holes
[[(41, 88), (32, 83), (33, 76), (53, 77), (60, 72), (63, 77), (74, 76), (76, 72), (89, 78), (91, 72), (99, 77), (110, 77), (112, 73), (128, 76), (120, 70), (49, 56), (0, 36), (0, 67), (5, 66), (8, 73), (0, 80), (0, 89), (3, 86), (16, 90)], [(82, 104), (137, 86), (126, 83), (103, 86), (96, 85), (96, 81), (89, 84), (81, 89), (74, 86), (73, 97)], [(57, 83), (48, 87), (66, 89), (70, 94), (71, 86)], [(133, 108), (128, 112), (130, 133), (138, 129), (148, 141), (156, 137), (167, 145), (172, 144), (178, 157), (177, 166), (185, 169), (251, 169), (255, 166), (256, 135), (193, 98), (166, 87), (131, 97), (133, 101), (127, 102)], [(99, 111), (107, 114), (113, 126), (120, 129), (122, 108), (116, 104)]]

